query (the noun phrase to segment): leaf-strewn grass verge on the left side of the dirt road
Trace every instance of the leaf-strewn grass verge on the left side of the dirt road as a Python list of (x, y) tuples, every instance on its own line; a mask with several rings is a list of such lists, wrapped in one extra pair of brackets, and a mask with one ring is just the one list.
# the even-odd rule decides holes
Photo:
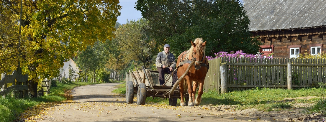
[(6, 98), (0, 97), (0, 120), (2, 122), (19, 121), (24, 118), (28, 120), (31, 116), (37, 116), (42, 111), (39, 108), (71, 99), (72, 96), (69, 95), (71, 89), (92, 84), (99, 83), (57, 83), (56, 87), (51, 87), (49, 95), (37, 98), (15, 99), (9, 93)]

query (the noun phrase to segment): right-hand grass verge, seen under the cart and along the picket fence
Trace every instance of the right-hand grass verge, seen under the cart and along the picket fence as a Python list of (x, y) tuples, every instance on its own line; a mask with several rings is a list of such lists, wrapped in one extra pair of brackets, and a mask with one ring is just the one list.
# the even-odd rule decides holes
[[(116, 93), (126, 93), (126, 86), (121, 85), (116, 89)], [(252, 88), (245, 91), (233, 91), (225, 94), (219, 94), (215, 90), (209, 90), (202, 95), (201, 105), (212, 104), (218, 105), (239, 105), (238, 110), (257, 108), (261, 111), (279, 111), (292, 108), (295, 103), (314, 104), (307, 107), (307, 112), (325, 112), (326, 111), (326, 88), (300, 88), (300, 89), (283, 89), (283, 88)], [(314, 96), (312, 99), (294, 99), (286, 100), (285, 98), (298, 98)], [(284, 100), (285, 99), (285, 100)], [(163, 98), (146, 98), (146, 104), (169, 104), (168, 100)], [(315, 104), (316, 103), (316, 104)], [(180, 105), (178, 99), (177, 105)]]

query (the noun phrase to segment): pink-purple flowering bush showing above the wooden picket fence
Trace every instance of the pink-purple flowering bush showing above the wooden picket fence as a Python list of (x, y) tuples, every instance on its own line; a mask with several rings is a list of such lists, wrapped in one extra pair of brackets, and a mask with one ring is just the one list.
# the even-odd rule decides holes
[[(234, 57), (234, 58), (262, 58), (262, 56), (260, 55), (259, 52), (257, 52), (257, 54), (247, 54), (244, 53), (242, 50), (239, 51), (231, 51), (230, 53), (228, 52), (224, 52), (224, 51), (220, 51), (218, 53), (215, 53), (216, 57), (212, 57), (212, 56), (206, 56), (208, 60), (212, 60), (212, 59), (216, 59), (219, 57)], [(266, 57), (266, 58), (272, 58), (272, 56)]]

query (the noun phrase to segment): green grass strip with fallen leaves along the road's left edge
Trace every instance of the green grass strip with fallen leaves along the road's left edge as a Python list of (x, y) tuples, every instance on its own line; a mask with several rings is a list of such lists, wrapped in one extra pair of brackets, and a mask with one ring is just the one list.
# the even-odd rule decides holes
[(0, 97), (0, 120), (2, 122), (12, 122), (17, 119), (22, 112), (42, 102), (62, 102), (67, 100), (65, 90), (73, 89), (79, 86), (98, 84), (98, 83), (57, 83), (56, 87), (51, 87), (51, 93), (47, 96), (37, 98), (15, 99), (9, 94), (6, 98)]

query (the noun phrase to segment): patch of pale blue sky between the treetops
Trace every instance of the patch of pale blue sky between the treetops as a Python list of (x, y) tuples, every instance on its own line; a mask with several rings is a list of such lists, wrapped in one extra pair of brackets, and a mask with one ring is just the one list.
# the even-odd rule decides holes
[(134, 7), (136, 6), (137, 0), (119, 0), (119, 5), (122, 6), (120, 13), (121, 15), (118, 16), (117, 22), (120, 24), (126, 24), (128, 20), (138, 20), (141, 18), (141, 12), (136, 10)]

